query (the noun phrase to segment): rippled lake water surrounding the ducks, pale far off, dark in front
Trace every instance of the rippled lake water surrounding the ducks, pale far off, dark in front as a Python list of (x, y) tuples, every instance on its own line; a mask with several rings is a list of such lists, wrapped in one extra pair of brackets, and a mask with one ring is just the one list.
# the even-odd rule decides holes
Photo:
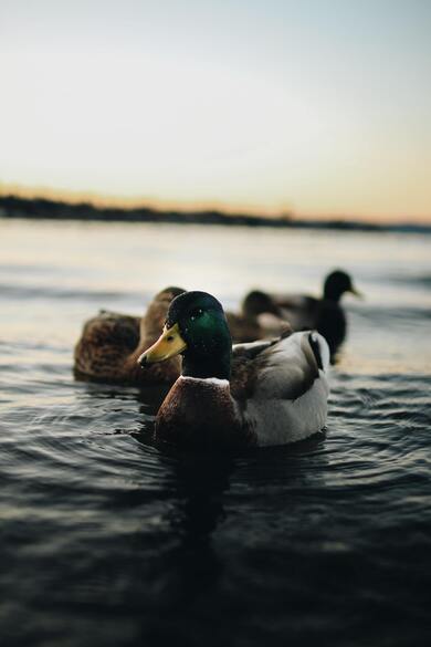
[[(417, 234), (0, 220), (2, 645), (412, 646), (431, 585), (431, 254)], [(76, 383), (97, 309), (229, 307), (351, 272), (327, 429), (199, 456), (154, 393)]]

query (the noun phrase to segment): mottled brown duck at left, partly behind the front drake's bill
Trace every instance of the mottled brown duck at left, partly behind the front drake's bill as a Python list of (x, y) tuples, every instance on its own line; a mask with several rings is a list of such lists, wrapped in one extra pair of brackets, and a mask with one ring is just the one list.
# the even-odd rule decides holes
[(175, 357), (148, 372), (140, 371), (137, 358), (159, 337), (170, 302), (180, 288), (167, 288), (148, 305), (145, 316), (101, 311), (88, 320), (74, 351), (74, 374), (81, 379), (122, 384), (172, 384), (181, 362)]

